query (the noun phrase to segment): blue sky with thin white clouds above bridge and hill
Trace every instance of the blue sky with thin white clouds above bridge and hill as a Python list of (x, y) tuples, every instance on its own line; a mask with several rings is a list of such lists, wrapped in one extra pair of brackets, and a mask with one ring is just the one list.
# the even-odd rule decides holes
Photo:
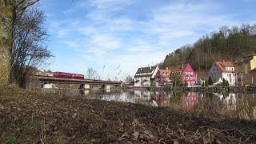
[(41, 0), (54, 54), (47, 70), (103, 78), (134, 76), (138, 67), (196, 42), (221, 26), (255, 22), (254, 0)]

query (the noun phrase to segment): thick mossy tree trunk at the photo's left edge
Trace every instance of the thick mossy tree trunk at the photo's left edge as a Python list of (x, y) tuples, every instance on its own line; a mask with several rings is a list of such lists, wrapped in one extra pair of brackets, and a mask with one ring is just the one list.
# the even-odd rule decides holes
[(10, 83), (14, 22), (39, 0), (0, 0), (0, 83)]

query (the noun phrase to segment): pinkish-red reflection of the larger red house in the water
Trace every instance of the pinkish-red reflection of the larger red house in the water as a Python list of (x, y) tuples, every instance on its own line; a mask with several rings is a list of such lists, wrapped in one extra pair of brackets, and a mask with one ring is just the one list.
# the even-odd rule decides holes
[(192, 110), (193, 107), (198, 103), (198, 93), (189, 92), (187, 94), (183, 94), (182, 102), (186, 110)]

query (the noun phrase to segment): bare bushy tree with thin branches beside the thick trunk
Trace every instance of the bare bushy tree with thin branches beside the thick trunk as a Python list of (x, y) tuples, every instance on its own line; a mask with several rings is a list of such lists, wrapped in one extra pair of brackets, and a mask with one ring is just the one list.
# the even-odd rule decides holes
[(46, 46), (48, 35), (42, 28), (44, 18), (42, 10), (33, 6), (15, 21), (11, 82), (24, 88), (35, 70), (46, 66), (47, 59), (51, 57)]

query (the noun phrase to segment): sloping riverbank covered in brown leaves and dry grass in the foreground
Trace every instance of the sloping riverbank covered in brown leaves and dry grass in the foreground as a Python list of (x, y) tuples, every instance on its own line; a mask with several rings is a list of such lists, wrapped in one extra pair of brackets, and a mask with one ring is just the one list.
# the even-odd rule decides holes
[(0, 87), (0, 143), (256, 142), (256, 123)]

